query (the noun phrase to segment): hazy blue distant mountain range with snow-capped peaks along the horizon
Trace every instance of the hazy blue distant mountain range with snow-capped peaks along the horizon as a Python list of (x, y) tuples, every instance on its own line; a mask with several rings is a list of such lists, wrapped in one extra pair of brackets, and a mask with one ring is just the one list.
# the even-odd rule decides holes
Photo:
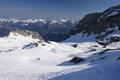
[(62, 41), (69, 37), (68, 32), (75, 25), (76, 21), (65, 19), (0, 19), (0, 36), (6, 36), (11, 31), (29, 30), (37, 32), (45, 40)]

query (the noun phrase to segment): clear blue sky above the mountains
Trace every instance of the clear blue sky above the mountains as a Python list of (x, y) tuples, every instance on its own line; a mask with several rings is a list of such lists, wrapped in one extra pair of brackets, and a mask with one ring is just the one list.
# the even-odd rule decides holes
[(0, 18), (79, 20), (119, 3), (120, 0), (0, 0)]

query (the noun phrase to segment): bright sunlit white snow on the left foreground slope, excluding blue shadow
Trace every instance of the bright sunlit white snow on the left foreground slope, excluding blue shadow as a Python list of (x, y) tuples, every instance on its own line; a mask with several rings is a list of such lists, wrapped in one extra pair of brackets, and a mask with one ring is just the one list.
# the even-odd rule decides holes
[[(30, 43), (38, 46), (23, 48)], [(75, 49), (65, 44), (40, 42), (11, 33), (0, 38), (0, 80), (37, 80), (45, 73), (63, 70), (65, 67), (56, 65), (67, 59), (72, 50)]]

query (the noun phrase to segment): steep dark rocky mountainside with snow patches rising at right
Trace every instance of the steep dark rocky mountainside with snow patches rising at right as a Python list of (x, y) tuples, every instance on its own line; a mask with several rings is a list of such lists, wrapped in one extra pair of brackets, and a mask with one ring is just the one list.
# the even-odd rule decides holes
[[(120, 5), (113, 6), (101, 13), (86, 15), (70, 31), (70, 35), (80, 33), (88, 37), (94, 35), (94, 39), (102, 39), (110, 34), (120, 34)], [(94, 40), (93, 40), (94, 41)]]

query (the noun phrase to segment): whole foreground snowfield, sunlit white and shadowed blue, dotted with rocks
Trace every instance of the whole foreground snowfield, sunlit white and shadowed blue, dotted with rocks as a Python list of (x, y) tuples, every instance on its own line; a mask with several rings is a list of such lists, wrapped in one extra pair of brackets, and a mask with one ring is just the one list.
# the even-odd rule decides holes
[[(48, 43), (10, 33), (0, 38), (0, 80), (119, 80), (119, 48), (119, 42), (103, 48), (96, 42)], [(85, 61), (70, 63), (75, 56)]]

